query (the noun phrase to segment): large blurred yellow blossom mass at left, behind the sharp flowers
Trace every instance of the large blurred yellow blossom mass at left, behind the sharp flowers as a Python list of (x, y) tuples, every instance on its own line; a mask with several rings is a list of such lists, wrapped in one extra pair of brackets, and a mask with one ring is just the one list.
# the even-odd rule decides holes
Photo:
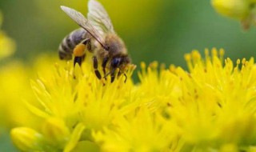
[(30, 78), (37, 78), (38, 69), (41, 72), (48, 70), (55, 61), (47, 55), (41, 55), (30, 66), (15, 60), (0, 66), (0, 127), (10, 129), (14, 126), (40, 125), (38, 122), (41, 120), (34, 117), (26, 107), (26, 102), (39, 105)]

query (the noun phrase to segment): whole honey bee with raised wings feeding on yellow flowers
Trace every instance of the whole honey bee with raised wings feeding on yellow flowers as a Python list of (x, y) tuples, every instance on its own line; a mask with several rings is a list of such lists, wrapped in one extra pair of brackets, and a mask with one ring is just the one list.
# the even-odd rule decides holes
[[(130, 57), (125, 43), (118, 34), (115, 33), (114, 27), (104, 7), (96, 0), (88, 2), (87, 18), (77, 10), (66, 6), (61, 9), (78, 23), (81, 28), (72, 31), (62, 40), (58, 48), (59, 58), (62, 60), (71, 60), (74, 55), (74, 66), (78, 63), (81, 66), (86, 56), (86, 51), (93, 54), (92, 62), (94, 73), (98, 79), (102, 75), (98, 70), (98, 63), (101, 63), (103, 78), (108, 75), (111, 82), (114, 82), (116, 72), (118, 76), (126, 76), (126, 67), (130, 64)], [(106, 73), (108, 70), (108, 73)], [(126, 82), (126, 79), (125, 79)]]

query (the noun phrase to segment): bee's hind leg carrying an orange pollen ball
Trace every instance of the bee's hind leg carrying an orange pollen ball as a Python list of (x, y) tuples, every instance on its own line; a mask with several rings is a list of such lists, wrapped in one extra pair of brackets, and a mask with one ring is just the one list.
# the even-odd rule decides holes
[(86, 50), (86, 45), (84, 44), (78, 44), (77, 46), (74, 47), (74, 66), (76, 63), (78, 63), (79, 66), (82, 64), (82, 60), (85, 57), (85, 50)]

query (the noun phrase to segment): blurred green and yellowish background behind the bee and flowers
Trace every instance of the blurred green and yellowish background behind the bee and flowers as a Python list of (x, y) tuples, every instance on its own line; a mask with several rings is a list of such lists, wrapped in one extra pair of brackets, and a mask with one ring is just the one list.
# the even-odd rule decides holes
[[(243, 31), (238, 21), (217, 14), (210, 1), (99, 1), (135, 64), (156, 60), (186, 68), (184, 54), (212, 47), (225, 49), (226, 57), (234, 61), (256, 55), (256, 28)], [(27, 62), (46, 52), (58, 56), (62, 38), (78, 28), (59, 6), (86, 14), (86, 3), (87, 0), (0, 0), (2, 30), (17, 44), (13, 58)], [(0, 151), (15, 151), (6, 137), (1, 135)]]

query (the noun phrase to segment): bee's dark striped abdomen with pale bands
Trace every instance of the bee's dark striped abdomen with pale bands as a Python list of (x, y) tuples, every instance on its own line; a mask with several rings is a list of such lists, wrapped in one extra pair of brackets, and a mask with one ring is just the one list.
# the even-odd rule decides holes
[(74, 47), (86, 38), (90, 38), (90, 35), (86, 32), (86, 30), (79, 28), (78, 30), (72, 31), (58, 46), (59, 58), (62, 60), (71, 60)]

